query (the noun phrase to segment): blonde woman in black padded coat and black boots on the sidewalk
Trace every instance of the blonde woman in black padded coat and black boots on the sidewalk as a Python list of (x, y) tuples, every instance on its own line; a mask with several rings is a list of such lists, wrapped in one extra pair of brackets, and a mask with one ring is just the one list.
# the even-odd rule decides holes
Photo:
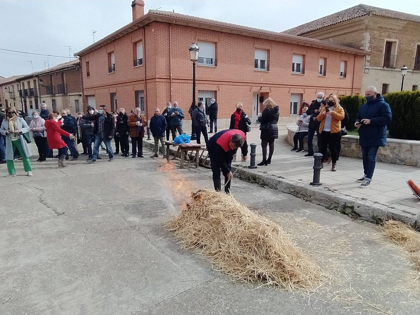
[[(271, 163), (271, 157), (274, 153), (274, 140), (278, 139), (278, 105), (270, 98), (266, 99), (262, 105), (265, 106), (262, 114), (258, 117), (258, 121), (261, 123), (261, 147), (262, 147), (262, 161), (257, 165), (267, 165)], [(267, 158), (267, 144), (270, 148), (270, 152)]]

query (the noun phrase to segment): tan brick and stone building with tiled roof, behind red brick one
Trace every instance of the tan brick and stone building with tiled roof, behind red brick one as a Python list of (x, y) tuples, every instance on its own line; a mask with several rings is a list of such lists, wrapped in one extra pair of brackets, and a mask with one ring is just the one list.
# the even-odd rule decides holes
[(403, 66), (404, 90), (420, 87), (420, 16), (356, 5), (284, 31), (359, 48), (366, 55), (362, 90), (370, 85), (378, 92), (400, 91)]

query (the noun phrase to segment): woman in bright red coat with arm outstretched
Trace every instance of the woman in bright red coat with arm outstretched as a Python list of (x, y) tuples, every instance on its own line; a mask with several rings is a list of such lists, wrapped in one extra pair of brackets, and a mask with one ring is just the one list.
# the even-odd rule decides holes
[(58, 121), (57, 114), (50, 113), (48, 119), (45, 121), (45, 128), (47, 129), (48, 147), (50, 149), (58, 149), (58, 167), (65, 167), (64, 160), (66, 159), (68, 147), (66, 142), (61, 139), (60, 135), (69, 137), (73, 140), (76, 137), (61, 129), (61, 124), (63, 123)]

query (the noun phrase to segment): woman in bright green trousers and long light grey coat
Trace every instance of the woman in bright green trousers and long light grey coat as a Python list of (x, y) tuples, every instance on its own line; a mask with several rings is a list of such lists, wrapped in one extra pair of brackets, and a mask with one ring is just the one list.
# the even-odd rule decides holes
[(29, 162), (32, 153), (24, 138), (24, 134), (29, 133), (29, 126), (23, 118), (18, 116), (16, 109), (11, 107), (6, 109), (6, 119), (1, 124), (0, 133), (6, 136), (6, 163), (9, 172), (6, 177), (16, 176), (13, 163), (13, 152), (15, 150), (18, 150), (21, 154), (25, 172), (28, 176), (32, 176), (31, 163)]

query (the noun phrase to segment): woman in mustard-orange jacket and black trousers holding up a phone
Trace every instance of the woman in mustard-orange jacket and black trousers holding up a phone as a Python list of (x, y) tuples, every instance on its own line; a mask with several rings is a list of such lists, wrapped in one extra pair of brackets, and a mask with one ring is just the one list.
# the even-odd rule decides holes
[[(326, 157), (327, 145), (331, 152), (333, 162), (331, 171), (337, 171), (337, 142), (341, 131), (341, 121), (344, 118), (344, 109), (340, 106), (340, 101), (336, 95), (331, 94), (327, 97), (327, 106), (321, 109), (317, 120), (320, 122), (319, 132), (321, 134), (321, 151), (323, 160)], [(324, 163), (322, 162), (322, 167)]]

